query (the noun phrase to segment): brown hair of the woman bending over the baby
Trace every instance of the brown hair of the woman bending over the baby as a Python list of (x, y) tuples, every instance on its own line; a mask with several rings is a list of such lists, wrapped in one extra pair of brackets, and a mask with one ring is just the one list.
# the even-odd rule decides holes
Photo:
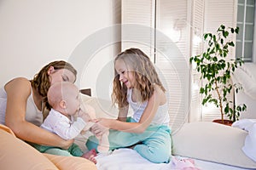
[(36, 74), (33, 79), (31, 80), (32, 88), (35, 88), (38, 91), (38, 94), (43, 96), (44, 104), (47, 109), (50, 109), (50, 105), (47, 99), (47, 92), (50, 87), (50, 80), (49, 80), (49, 67), (53, 66), (55, 70), (67, 69), (73, 72), (74, 76), (77, 76), (77, 71), (73, 68), (73, 65), (67, 63), (64, 60), (57, 60), (50, 62), (48, 65), (45, 65), (41, 71)]

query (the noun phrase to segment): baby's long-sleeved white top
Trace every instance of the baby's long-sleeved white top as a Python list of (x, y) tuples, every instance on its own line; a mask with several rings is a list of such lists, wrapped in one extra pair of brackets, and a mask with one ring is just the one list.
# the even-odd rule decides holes
[(84, 129), (86, 122), (81, 117), (73, 122), (59, 111), (51, 109), (41, 127), (51, 133), (59, 135), (62, 139), (74, 139)]

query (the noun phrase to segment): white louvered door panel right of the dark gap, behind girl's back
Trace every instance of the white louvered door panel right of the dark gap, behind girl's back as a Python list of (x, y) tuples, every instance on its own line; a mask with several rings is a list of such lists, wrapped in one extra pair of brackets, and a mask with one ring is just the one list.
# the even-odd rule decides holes
[(158, 0), (156, 3), (156, 59), (166, 83), (172, 131), (188, 122), (189, 115), (189, 3)]

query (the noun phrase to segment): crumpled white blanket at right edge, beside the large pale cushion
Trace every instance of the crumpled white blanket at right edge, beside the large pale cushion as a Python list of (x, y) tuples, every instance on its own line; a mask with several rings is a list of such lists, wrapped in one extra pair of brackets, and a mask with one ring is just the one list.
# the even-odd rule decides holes
[(256, 119), (241, 119), (234, 122), (232, 127), (238, 127), (248, 132), (242, 151), (256, 161)]

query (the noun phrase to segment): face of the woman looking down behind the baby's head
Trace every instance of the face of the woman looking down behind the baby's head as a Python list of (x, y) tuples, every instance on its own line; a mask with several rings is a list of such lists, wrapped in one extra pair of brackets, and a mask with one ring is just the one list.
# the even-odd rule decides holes
[(55, 70), (53, 66), (49, 67), (48, 75), (50, 84), (55, 82), (75, 82), (76, 80), (72, 71), (67, 69)]

